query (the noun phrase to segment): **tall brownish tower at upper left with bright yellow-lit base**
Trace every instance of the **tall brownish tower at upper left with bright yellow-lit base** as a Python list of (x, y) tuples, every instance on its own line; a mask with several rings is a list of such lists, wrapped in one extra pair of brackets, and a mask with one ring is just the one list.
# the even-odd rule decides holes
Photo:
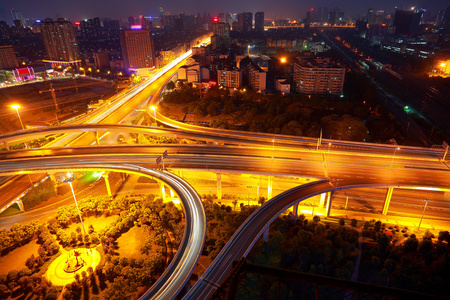
[(47, 52), (44, 62), (52, 63), (53, 67), (78, 65), (81, 62), (75, 29), (71, 22), (63, 18), (56, 21), (45, 19), (41, 22), (41, 34)]

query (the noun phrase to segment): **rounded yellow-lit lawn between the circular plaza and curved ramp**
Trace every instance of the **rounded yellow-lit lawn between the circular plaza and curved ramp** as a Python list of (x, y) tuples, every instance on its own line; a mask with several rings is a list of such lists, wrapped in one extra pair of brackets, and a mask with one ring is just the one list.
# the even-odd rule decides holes
[[(134, 226), (128, 232), (122, 234), (117, 239), (117, 245), (119, 249), (120, 256), (126, 256), (128, 258), (146, 258), (148, 257), (145, 254), (141, 253), (141, 246), (145, 243), (145, 238), (147, 236), (147, 232), (143, 227)], [(154, 251), (156, 246), (153, 245), (152, 250)]]

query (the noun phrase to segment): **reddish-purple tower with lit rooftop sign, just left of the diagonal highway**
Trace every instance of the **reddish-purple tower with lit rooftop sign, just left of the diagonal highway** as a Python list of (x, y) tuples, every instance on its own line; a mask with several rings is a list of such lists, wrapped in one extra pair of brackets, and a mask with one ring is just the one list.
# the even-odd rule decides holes
[(124, 30), (120, 33), (125, 69), (153, 68), (156, 65), (155, 47), (149, 30)]

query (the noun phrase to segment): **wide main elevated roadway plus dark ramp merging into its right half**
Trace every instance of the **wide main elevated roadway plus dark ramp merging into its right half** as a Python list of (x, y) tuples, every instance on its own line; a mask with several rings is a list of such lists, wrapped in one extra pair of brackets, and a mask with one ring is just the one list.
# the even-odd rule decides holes
[[(238, 230), (216, 261), (213, 262), (204, 276), (187, 295), (189, 299), (206, 299), (222, 283), (226, 271), (231, 268), (230, 261), (239, 259), (258, 238), (262, 230), (276, 218), (280, 212), (301, 199), (321, 194), (330, 190), (355, 187), (387, 187), (387, 186), (417, 186), (448, 188), (450, 176), (446, 170), (430, 170), (430, 168), (415, 166), (414, 160), (398, 159), (394, 167), (390, 165), (389, 157), (353, 157), (352, 161), (331, 159), (328, 164), (322, 161), (300, 158), (281, 158), (283, 150), (275, 151), (275, 158), (268, 158), (272, 151), (269, 148), (216, 145), (162, 145), (162, 146), (100, 146), (60, 149), (31, 149), (2, 152), (0, 154), (0, 173), (8, 175), (8, 170), (33, 170), (35, 164), (41, 165), (41, 170), (65, 168), (73, 170), (76, 165), (87, 166), (88, 162), (96, 164), (97, 168), (108, 169), (112, 164), (134, 164), (142, 168), (154, 167), (157, 153), (168, 149), (167, 166), (171, 168), (239, 170), (242, 173), (288, 174), (315, 177), (328, 176), (331, 182), (318, 181), (294, 188), (268, 201), (258, 209)], [(209, 151), (209, 153), (207, 153)], [(286, 150), (289, 152), (288, 150)], [(247, 155), (244, 153), (247, 152)], [(259, 153), (259, 154), (258, 154)], [(290, 151), (290, 154), (293, 153)], [(306, 152), (301, 152), (304, 155)], [(311, 150), (311, 155), (323, 156)], [(57, 162), (57, 165), (55, 165)], [(59, 165), (60, 164), (60, 165)], [(438, 161), (435, 163), (441, 165)], [(17, 173), (14, 173), (17, 174)], [(197, 203), (200, 206), (201, 202)], [(197, 224), (194, 224), (196, 226)], [(197, 228), (194, 229), (196, 231)], [(204, 237), (203, 237), (204, 238)], [(199, 240), (200, 241), (200, 240)], [(203, 242), (202, 242), (203, 243)], [(198, 247), (202, 245), (197, 245)], [(192, 251), (192, 250), (189, 250)], [(180, 251), (181, 253), (182, 251)], [(169, 282), (167, 282), (169, 284)], [(150, 297), (145, 297), (150, 298)]]

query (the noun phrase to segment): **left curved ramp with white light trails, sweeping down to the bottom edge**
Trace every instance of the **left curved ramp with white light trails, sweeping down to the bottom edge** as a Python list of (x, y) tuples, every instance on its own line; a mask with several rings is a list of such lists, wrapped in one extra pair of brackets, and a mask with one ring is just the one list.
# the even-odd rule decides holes
[[(22, 154), (28, 155), (24, 151)], [(75, 151), (76, 152), (76, 151)], [(184, 287), (197, 265), (203, 251), (206, 237), (206, 215), (197, 192), (184, 180), (168, 172), (159, 172), (142, 166), (122, 163), (109, 163), (99, 156), (43, 157), (30, 159), (8, 159), (0, 155), (2, 164), (0, 175), (17, 175), (22, 170), (31, 173), (67, 172), (86, 170), (122, 171), (139, 176), (158, 179), (169, 185), (180, 197), (185, 211), (186, 226), (183, 239), (172, 259), (158, 281), (143, 295), (146, 299), (172, 299)], [(124, 160), (126, 161), (126, 160)], [(129, 161), (131, 163), (131, 161)]]

